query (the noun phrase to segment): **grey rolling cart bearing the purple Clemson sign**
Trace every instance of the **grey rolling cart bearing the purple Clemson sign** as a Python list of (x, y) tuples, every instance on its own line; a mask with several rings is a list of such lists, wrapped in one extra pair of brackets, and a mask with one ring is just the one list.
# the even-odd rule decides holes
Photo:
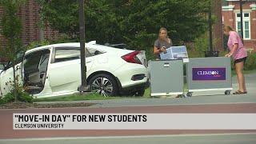
[(223, 94), (230, 94), (232, 90), (230, 58), (190, 58), (186, 64), (186, 82), (188, 92), (221, 90)]

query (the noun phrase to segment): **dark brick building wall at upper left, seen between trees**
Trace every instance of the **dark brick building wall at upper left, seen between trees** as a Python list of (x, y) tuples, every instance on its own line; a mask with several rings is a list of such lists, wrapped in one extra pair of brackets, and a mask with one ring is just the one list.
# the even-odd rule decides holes
[[(3, 10), (0, 7), (0, 17)], [(28, 0), (26, 6), (22, 6), (18, 13), (22, 20), (22, 43), (24, 45), (30, 42), (39, 41), (42, 39), (58, 38), (58, 32), (50, 30), (50, 26), (45, 26), (42, 30), (39, 26), (39, 6), (35, 0)], [(0, 26), (1, 29), (1, 26)], [(5, 39), (0, 34), (0, 44), (4, 43)]]

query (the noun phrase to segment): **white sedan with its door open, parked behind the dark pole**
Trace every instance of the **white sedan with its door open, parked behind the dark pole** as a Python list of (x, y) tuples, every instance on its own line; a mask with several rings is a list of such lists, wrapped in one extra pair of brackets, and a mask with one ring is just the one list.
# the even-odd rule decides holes
[[(145, 51), (86, 43), (86, 82), (104, 96), (143, 95), (147, 86)], [(60, 43), (27, 50), (15, 66), (19, 83), (37, 98), (74, 94), (81, 85), (80, 44)], [(0, 96), (10, 92), (12, 67), (0, 74)]]

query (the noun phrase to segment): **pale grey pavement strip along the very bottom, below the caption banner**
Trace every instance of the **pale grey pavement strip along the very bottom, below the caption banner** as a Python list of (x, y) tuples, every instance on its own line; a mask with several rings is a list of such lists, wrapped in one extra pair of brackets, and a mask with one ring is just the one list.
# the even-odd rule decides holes
[(96, 143), (175, 143), (175, 144), (254, 144), (256, 134), (183, 134), (183, 135), (158, 135), (158, 136), (126, 136), (126, 137), (87, 137), (87, 138), (32, 138), (32, 139), (6, 139), (0, 140), (1, 144), (96, 144)]

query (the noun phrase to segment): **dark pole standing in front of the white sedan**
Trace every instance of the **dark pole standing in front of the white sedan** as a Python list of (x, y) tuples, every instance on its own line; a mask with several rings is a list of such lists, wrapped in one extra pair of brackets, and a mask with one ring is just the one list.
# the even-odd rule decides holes
[(90, 91), (86, 83), (86, 46), (85, 46), (85, 10), (84, 0), (79, 0), (79, 33), (80, 33), (80, 54), (81, 54), (81, 86), (78, 87), (80, 94)]

